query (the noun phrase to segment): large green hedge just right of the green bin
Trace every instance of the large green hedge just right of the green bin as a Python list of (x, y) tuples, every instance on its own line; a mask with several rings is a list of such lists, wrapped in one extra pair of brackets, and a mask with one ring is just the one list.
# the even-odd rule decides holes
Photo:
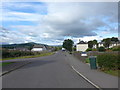
[(101, 54), (97, 56), (97, 62), (102, 70), (118, 70), (120, 69), (120, 60), (118, 54)]

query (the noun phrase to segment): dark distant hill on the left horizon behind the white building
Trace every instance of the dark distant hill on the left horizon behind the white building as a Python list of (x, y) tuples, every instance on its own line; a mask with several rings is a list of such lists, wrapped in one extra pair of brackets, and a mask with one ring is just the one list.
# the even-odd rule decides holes
[(21, 43), (21, 44), (3, 44), (3, 45), (0, 45), (0, 47), (6, 48), (6, 49), (13, 49), (13, 48), (28, 48), (28, 49), (31, 49), (34, 45), (44, 45), (44, 46), (48, 47), (48, 45), (34, 43), (34, 42)]

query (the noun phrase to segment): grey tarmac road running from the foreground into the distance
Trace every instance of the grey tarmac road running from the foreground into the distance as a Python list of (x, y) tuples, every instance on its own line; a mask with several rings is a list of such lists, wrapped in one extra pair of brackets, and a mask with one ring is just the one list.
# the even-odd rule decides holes
[(3, 88), (94, 88), (69, 65), (62, 51), (39, 57), (2, 77)]

